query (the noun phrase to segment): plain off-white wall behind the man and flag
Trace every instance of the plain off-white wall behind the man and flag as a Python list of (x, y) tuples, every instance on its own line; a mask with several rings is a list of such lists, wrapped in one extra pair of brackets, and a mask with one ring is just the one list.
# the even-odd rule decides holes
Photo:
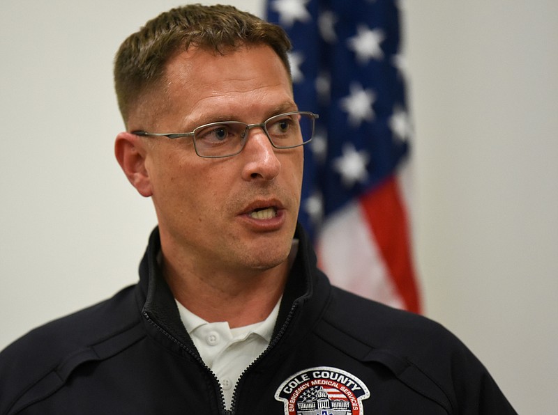
[[(1, 1), (0, 348), (136, 281), (156, 219), (112, 155), (112, 58), (179, 3)], [(402, 6), (426, 313), (518, 412), (555, 414), (558, 2)]]

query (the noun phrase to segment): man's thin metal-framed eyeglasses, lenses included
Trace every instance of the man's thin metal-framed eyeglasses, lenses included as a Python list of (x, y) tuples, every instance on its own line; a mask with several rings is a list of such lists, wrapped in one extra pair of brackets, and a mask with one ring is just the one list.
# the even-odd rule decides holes
[(312, 140), (318, 114), (293, 111), (268, 118), (261, 124), (240, 121), (209, 123), (195, 128), (193, 132), (160, 133), (133, 131), (138, 136), (162, 136), (169, 139), (192, 136), (195, 152), (199, 157), (230, 157), (242, 151), (248, 139), (248, 130), (260, 127), (274, 148), (294, 148)]

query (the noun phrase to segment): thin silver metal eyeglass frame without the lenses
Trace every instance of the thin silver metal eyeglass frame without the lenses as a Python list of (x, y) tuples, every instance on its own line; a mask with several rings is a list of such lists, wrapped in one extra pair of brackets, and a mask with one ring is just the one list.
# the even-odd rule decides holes
[[(310, 118), (310, 120), (312, 120), (312, 136), (310, 136), (310, 139), (308, 141), (303, 141), (300, 144), (296, 144), (294, 146), (277, 146), (275, 143), (273, 143), (273, 140), (271, 139), (271, 136), (269, 136), (269, 132), (267, 131), (266, 128), (266, 124), (269, 123), (269, 121), (273, 120), (273, 118), (280, 118), (282, 116), (292, 116), (294, 114), (301, 114), (303, 116), (308, 116)], [(300, 147), (300, 146), (304, 146), (307, 143), (310, 143), (310, 141), (312, 141), (312, 138), (314, 138), (314, 132), (315, 132), (315, 123), (317, 118), (319, 118), (319, 115), (317, 113), (313, 113), (311, 111), (290, 111), (290, 112), (285, 112), (285, 113), (280, 113), (277, 114), (275, 116), (271, 116), (269, 118), (267, 118), (263, 123), (257, 123), (257, 124), (247, 124), (247, 123), (243, 123), (242, 121), (216, 121), (214, 123), (208, 123), (208, 124), (204, 124), (204, 125), (199, 125), (199, 127), (195, 127), (194, 130), (192, 130), (191, 132), (146, 132), (143, 130), (135, 130), (132, 131), (131, 134), (135, 134), (137, 136), (155, 136), (155, 137), (167, 137), (167, 139), (180, 139), (183, 137), (188, 137), (191, 136), (192, 137), (192, 141), (194, 143), (194, 150), (196, 152), (196, 155), (198, 155), (199, 157), (204, 157), (206, 159), (222, 159), (225, 157), (232, 157), (235, 155), (238, 155), (242, 152), (242, 150), (244, 149), (244, 146), (246, 146), (246, 142), (248, 141), (248, 134), (247, 132), (249, 132), (250, 130), (252, 130), (252, 128), (255, 127), (260, 127), (262, 129), (262, 131), (264, 132), (264, 134), (266, 134), (267, 139), (269, 140), (269, 142), (271, 143), (271, 146), (273, 146), (273, 148), (277, 148), (278, 150), (285, 150), (288, 148), (296, 148), (296, 147)], [(234, 152), (232, 154), (227, 154), (227, 155), (200, 155), (199, 152), (197, 151), (197, 146), (196, 146), (196, 140), (195, 140), (195, 134), (197, 131), (202, 130), (202, 128), (207, 128), (207, 127), (211, 127), (213, 125), (223, 125), (223, 124), (241, 124), (241, 125), (246, 125), (246, 129), (244, 130), (244, 136), (246, 138), (243, 138), (243, 143), (241, 148), (237, 151)]]

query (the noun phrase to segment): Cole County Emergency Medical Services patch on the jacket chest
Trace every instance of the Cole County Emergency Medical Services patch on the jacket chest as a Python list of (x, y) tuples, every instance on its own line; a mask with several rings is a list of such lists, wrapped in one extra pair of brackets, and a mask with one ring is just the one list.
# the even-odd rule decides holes
[(362, 415), (370, 391), (358, 377), (324, 366), (289, 377), (275, 398), (285, 404), (285, 415)]

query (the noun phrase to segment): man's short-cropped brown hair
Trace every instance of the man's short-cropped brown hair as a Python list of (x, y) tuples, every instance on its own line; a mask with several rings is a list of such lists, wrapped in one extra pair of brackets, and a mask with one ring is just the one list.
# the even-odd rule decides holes
[(163, 79), (165, 63), (191, 46), (223, 54), (243, 45), (268, 45), (290, 74), (285, 31), (233, 6), (192, 4), (149, 20), (122, 43), (114, 59), (114, 87), (124, 123), (130, 107)]

